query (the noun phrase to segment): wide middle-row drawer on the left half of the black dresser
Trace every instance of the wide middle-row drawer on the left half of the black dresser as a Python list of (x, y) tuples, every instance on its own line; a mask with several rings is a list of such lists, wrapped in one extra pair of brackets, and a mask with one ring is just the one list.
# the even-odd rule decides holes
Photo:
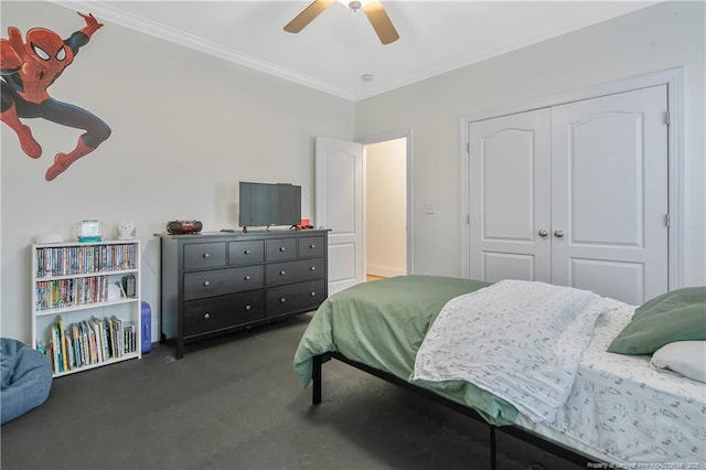
[(184, 300), (263, 287), (261, 265), (184, 274)]

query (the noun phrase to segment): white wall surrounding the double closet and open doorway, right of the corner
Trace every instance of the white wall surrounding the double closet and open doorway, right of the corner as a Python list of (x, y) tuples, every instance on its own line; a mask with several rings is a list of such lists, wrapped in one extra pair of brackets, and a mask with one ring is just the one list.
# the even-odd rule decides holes
[[(706, 284), (705, 3), (663, 2), (356, 104), (360, 138), (414, 131), (416, 273), (460, 274), (460, 158), (464, 116), (673, 67), (684, 70), (684, 284)], [(431, 228), (432, 227), (432, 228)]]

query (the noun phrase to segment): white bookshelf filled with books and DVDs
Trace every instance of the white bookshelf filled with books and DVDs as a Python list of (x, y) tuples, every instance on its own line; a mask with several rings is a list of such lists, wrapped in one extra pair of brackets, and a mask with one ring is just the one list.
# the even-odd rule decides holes
[(141, 357), (140, 310), (139, 241), (32, 245), (32, 345), (55, 377)]

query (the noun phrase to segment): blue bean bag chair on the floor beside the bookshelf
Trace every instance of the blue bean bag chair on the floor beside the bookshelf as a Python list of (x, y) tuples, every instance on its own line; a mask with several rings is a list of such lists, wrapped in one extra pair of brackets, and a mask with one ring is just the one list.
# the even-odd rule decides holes
[(0, 339), (0, 409), (6, 424), (40, 406), (52, 388), (47, 356), (9, 338)]

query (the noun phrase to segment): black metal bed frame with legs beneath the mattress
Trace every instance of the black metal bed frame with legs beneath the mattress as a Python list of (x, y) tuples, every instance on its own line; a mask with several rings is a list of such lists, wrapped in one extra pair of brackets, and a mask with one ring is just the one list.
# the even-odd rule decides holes
[(548, 440), (547, 438), (539, 436), (535, 432), (532, 432), (527, 429), (514, 426), (514, 425), (509, 425), (509, 426), (495, 426), (495, 425), (491, 425), (488, 424), (488, 421), (485, 421), (485, 419), (474, 409), (469, 408), (467, 406), (463, 406), (457, 402), (453, 402), (451, 399), (445, 398), (441, 395), (437, 395), (434, 392), (426, 389), (426, 388), (421, 388), (418, 387), (407, 381), (404, 381), (388, 372), (384, 372), (384, 371), (379, 371), (377, 368), (371, 367), (370, 365), (363, 364), (361, 362), (357, 361), (352, 361), (350, 359), (347, 359), (346, 356), (344, 356), (341, 353), (338, 352), (329, 352), (322, 355), (317, 355), (312, 359), (313, 361), (313, 370), (312, 370), (312, 394), (311, 394), (311, 403), (312, 405), (318, 405), (321, 403), (321, 393), (322, 393), (322, 364), (324, 361), (327, 361), (329, 357), (335, 359), (338, 361), (341, 361), (343, 363), (346, 363), (357, 370), (367, 372), (368, 374), (375, 375), (376, 377), (379, 377), (386, 382), (389, 382), (392, 384), (395, 384), (402, 388), (408, 389), (408, 391), (413, 391), (416, 394), (428, 398), (435, 403), (438, 403), (440, 405), (443, 405), (447, 408), (453, 409), (458, 413), (461, 413), (462, 415), (469, 416), (475, 420), (485, 423), (489, 427), (490, 430), (490, 435), (489, 435), (489, 441), (490, 441), (490, 468), (491, 470), (495, 470), (496, 469), (496, 449), (495, 449), (495, 432), (500, 431), (500, 432), (504, 432), (509, 436), (513, 436), (515, 438), (518, 438), (527, 444), (531, 444), (542, 450), (546, 450), (550, 453), (553, 453), (556, 457), (560, 457), (563, 459), (566, 459), (570, 462), (574, 463), (578, 463), (584, 466), (585, 468), (589, 468), (592, 466), (588, 466), (588, 463), (597, 463), (599, 462), (599, 460), (597, 460), (596, 458), (589, 457), (576, 449), (571, 449), (570, 447), (567, 447), (563, 444), (559, 442), (555, 442), (553, 440)]

